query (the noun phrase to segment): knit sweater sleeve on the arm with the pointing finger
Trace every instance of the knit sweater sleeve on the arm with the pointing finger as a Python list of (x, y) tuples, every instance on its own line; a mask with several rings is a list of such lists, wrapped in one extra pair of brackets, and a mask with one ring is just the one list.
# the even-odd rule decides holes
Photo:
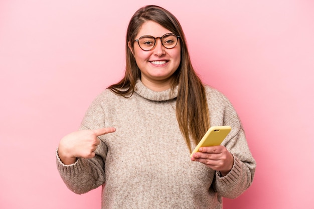
[[(97, 129), (104, 127), (104, 111), (101, 98), (98, 96), (89, 106), (80, 126), (82, 129)], [(75, 193), (86, 193), (105, 182), (104, 162), (108, 148), (104, 143), (105, 135), (99, 136), (100, 144), (93, 158), (78, 158), (70, 165), (62, 163), (58, 150), (56, 151), (57, 169), (67, 187)]]

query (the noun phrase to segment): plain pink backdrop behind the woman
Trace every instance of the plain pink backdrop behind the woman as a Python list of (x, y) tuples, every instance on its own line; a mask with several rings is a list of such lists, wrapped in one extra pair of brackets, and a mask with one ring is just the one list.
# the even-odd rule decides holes
[(224, 208), (313, 208), (312, 0), (1, 0), (0, 208), (100, 208), (55, 165), (60, 138), (124, 71), (134, 11), (158, 4), (186, 33), (202, 80), (238, 111), (257, 160)]

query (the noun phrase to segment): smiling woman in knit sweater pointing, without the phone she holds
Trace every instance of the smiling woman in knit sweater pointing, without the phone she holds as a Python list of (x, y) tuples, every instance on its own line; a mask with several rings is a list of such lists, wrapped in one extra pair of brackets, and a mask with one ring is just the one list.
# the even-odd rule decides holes
[[(213, 125), (232, 130), (190, 158)], [(149, 5), (129, 22), (124, 78), (60, 140), (57, 167), (76, 193), (102, 185), (102, 208), (222, 208), (249, 187), (255, 160), (229, 100), (196, 75), (176, 17)]]

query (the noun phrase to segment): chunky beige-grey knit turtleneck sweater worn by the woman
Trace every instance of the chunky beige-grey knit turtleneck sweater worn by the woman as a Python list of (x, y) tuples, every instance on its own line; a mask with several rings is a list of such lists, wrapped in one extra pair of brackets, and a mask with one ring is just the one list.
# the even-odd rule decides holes
[(80, 129), (116, 131), (99, 136), (91, 159), (65, 165), (57, 152), (62, 179), (75, 193), (101, 185), (102, 208), (222, 208), (222, 196), (235, 198), (251, 184), (255, 160), (229, 100), (206, 92), (211, 125), (232, 127), (222, 143), (234, 156), (226, 176), (191, 161), (176, 118), (178, 89), (155, 92), (138, 81), (129, 98), (106, 89), (92, 102)]

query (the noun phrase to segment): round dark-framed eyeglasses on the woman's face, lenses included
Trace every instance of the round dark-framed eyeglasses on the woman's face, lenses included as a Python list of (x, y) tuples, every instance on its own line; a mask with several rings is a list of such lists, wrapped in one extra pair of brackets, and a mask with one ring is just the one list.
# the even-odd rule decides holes
[(179, 35), (176, 35), (174, 33), (166, 33), (162, 37), (143, 35), (134, 41), (138, 43), (141, 49), (143, 49), (144, 51), (149, 51), (153, 49), (153, 47), (156, 45), (156, 39), (158, 38), (161, 39), (162, 44), (163, 46), (165, 46), (165, 48), (173, 48), (177, 45), (179, 37)]

